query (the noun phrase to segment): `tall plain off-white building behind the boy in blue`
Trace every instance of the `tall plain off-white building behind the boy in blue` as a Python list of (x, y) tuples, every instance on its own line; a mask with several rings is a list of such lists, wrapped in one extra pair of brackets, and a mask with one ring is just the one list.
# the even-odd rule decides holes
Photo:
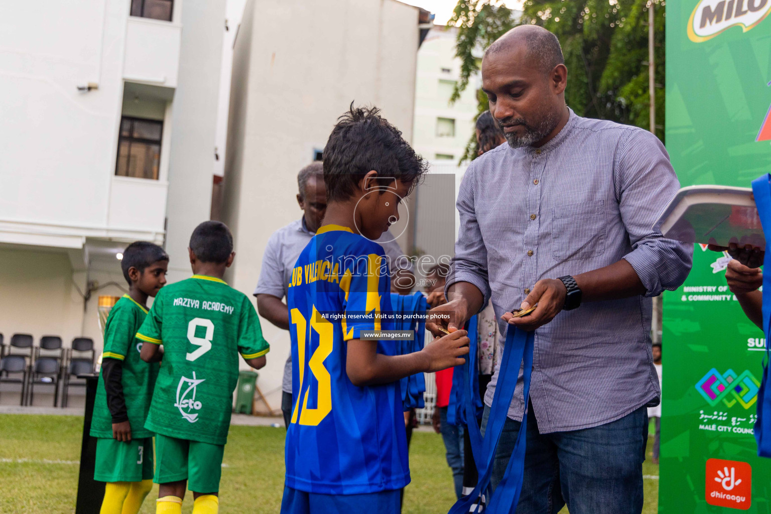
[[(271, 233), (302, 215), (298, 171), (321, 158), (351, 102), (380, 107), (412, 140), (425, 22), (428, 12), (396, 0), (248, 0), (234, 42), (224, 170), (223, 221), (236, 245), (231, 285), (251, 296)], [(399, 239), (404, 250), (409, 233)], [(278, 408), (289, 333), (265, 320), (262, 327), (271, 353), (258, 385)]]

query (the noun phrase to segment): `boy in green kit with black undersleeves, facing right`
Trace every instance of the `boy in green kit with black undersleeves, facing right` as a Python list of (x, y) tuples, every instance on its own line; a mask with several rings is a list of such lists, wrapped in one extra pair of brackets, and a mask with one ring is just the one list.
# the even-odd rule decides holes
[(105, 324), (90, 432), (97, 438), (94, 479), (107, 482), (100, 514), (136, 514), (153, 488), (153, 432), (144, 424), (158, 364), (140, 359), (136, 331), (147, 314), (147, 297), (166, 284), (168, 265), (169, 256), (155, 244), (137, 241), (123, 250), (120, 267), (129, 294), (116, 302)]

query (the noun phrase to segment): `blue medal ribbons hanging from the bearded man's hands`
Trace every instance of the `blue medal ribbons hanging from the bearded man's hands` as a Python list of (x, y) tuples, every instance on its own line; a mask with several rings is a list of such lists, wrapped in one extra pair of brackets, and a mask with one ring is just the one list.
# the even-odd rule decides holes
[[(503, 348), (503, 357), (500, 362), (495, 395), (493, 395), (493, 405), (490, 407), (490, 417), (487, 420), (484, 437), (482, 437), (479, 425), (476, 423), (468, 423), (466, 425), (469, 431), (471, 450), (474, 462), (476, 463), (479, 482), (477, 482), (472, 492), (463, 496), (449, 509), (449, 514), (482, 512), (482, 509), (491, 514), (513, 514), (517, 510), (524, 476), (525, 446), (527, 445), (527, 405), (530, 398), (530, 375), (533, 371), (533, 346), (534, 332), (517, 330), (509, 325), (506, 333), (506, 346)], [(525, 408), (522, 414), (522, 425), (503, 479), (498, 484), (493, 495), (490, 496), (490, 476), (493, 472), (495, 448), (503, 431), (503, 424), (506, 422), (510, 401), (514, 395), (514, 388), (517, 387), (520, 366), (524, 370)], [(463, 389), (466, 391), (464, 395), (466, 415), (470, 412), (476, 412), (473, 399), (479, 398), (478, 393), (476, 396), (471, 393), (473, 391), (473, 384), (471, 382), (470, 372), (466, 370), (463, 373)], [(480, 501), (484, 498), (489, 499), (486, 507), (483, 506), (484, 502)]]

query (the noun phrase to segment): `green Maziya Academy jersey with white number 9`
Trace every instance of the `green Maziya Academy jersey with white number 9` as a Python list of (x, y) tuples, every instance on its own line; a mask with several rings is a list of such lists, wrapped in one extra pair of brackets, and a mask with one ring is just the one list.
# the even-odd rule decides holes
[(146, 428), (224, 445), (238, 354), (258, 358), (269, 349), (249, 298), (218, 278), (194, 275), (160, 290), (136, 337), (163, 344)]

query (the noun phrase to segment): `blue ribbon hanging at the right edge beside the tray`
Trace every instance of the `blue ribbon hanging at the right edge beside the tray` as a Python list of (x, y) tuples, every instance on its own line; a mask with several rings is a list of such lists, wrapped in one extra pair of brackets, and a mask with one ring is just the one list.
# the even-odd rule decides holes
[[(766, 235), (766, 255), (763, 258), (763, 269), (771, 270), (771, 176), (768, 173), (752, 180), (752, 193), (758, 207), (760, 223)], [(763, 274), (763, 332), (766, 341), (769, 339), (769, 324), (771, 324), (771, 272)], [(766, 354), (763, 356), (763, 380), (760, 382), (757, 401), (757, 421), (755, 422), (755, 440), (758, 442), (758, 455), (771, 457), (771, 395), (766, 395), (766, 385), (769, 383), (769, 344), (766, 344)]]

